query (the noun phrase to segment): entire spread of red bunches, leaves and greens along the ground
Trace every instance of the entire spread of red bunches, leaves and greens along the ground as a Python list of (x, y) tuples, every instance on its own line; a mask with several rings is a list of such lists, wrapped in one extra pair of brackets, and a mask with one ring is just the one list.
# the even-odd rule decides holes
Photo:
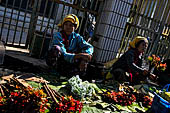
[(30, 82), (10, 76), (1, 81), (2, 113), (146, 112), (153, 101), (152, 96), (139, 92), (133, 86), (119, 84), (114, 90), (105, 84), (82, 81), (78, 75), (68, 78), (58, 86), (39, 81), (38, 78), (34, 80), (36, 82)]

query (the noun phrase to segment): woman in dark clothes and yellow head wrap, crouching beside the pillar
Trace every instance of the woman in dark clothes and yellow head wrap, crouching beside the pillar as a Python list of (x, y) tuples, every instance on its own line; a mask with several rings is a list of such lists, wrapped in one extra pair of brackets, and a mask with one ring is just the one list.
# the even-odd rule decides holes
[[(142, 55), (148, 46), (148, 40), (145, 37), (137, 36), (129, 43), (128, 51), (125, 52), (113, 65), (111, 74), (117, 81), (129, 81), (139, 83), (145, 80), (147, 76), (154, 79), (153, 74), (143, 69)], [(126, 74), (126, 72), (128, 74)]]

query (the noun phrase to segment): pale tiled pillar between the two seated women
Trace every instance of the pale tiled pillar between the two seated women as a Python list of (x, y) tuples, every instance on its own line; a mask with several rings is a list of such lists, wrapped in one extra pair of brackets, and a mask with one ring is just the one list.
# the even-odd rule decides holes
[(94, 59), (107, 62), (116, 57), (133, 0), (105, 0), (95, 38)]

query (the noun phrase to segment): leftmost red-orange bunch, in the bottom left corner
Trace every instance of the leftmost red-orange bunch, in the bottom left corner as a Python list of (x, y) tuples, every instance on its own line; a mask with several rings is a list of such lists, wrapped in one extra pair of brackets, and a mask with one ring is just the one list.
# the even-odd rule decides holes
[(45, 112), (49, 105), (47, 95), (42, 89), (25, 87), (15, 78), (11, 78), (9, 83), (1, 84), (0, 89), (2, 112)]

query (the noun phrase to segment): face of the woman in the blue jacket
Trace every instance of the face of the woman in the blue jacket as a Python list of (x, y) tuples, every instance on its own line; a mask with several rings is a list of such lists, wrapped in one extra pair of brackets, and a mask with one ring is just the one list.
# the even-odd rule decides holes
[(63, 25), (63, 30), (66, 32), (67, 35), (70, 35), (75, 30), (74, 24), (71, 22), (65, 22)]

